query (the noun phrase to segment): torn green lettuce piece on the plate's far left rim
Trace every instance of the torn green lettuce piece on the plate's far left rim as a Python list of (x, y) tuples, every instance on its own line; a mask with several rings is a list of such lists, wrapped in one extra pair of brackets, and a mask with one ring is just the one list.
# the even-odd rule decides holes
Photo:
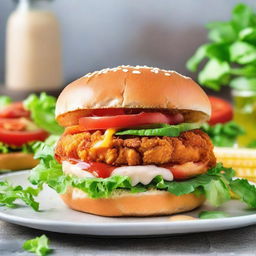
[(8, 181), (0, 181), (0, 205), (7, 207), (16, 207), (16, 200), (22, 200), (26, 205), (32, 207), (35, 211), (39, 209), (39, 203), (35, 201), (34, 196), (40, 192), (40, 188), (22, 186), (12, 186)]

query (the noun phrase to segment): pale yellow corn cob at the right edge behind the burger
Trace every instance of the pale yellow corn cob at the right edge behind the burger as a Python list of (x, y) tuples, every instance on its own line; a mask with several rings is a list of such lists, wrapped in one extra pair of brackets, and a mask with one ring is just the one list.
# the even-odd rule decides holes
[(256, 150), (245, 148), (214, 148), (218, 162), (232, 167), (236, 176), (256, 182)]

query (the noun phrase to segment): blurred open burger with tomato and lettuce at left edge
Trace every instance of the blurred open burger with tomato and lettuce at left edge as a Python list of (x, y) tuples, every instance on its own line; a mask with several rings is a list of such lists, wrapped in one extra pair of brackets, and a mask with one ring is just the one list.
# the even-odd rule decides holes
[(0, 96), (0, 170), (33, 168), (33, 145), (62, 128), (54, 119), (56, 99), (42, 93), (23, 102)]

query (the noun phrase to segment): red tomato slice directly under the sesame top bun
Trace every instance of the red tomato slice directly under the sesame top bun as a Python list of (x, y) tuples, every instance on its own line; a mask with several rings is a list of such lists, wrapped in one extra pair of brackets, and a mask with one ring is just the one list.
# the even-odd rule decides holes
[(139, 113), (133, 115), (116, 115), (104, 117), (82, 117), (79, 126), (85, 130), (101, 130), (108, 128), (127, 128), (147, 124), (178, 124), (184, 120), (181, 114), (165, 115), (162, 113)]

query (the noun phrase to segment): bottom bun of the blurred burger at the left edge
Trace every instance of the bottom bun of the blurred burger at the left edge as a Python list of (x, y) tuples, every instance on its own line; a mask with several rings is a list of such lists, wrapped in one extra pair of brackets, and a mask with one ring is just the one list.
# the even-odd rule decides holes
[(25, 170), (31, 169), (38, 164), (38, 160), (32, 154), (26, 153), (7, 153), (0, 154), (0, 170)]

